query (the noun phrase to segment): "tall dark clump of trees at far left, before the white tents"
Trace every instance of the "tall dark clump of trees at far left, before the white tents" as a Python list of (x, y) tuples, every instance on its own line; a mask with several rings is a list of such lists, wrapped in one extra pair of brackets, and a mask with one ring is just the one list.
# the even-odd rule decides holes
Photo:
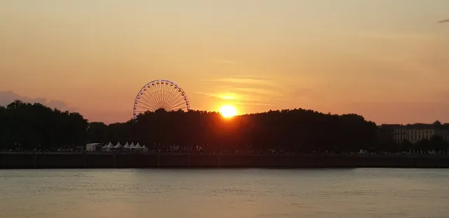
[(87, 140), (81, 114), (16, 100), (0, 107), (0, 149), (15, 151), (71, 148)]

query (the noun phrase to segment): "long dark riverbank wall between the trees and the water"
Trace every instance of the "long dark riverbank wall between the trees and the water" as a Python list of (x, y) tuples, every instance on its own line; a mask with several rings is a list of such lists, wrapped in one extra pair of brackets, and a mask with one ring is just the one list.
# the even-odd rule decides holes
[(0, 168), (449, 168), (449, 156), (0, 153)]

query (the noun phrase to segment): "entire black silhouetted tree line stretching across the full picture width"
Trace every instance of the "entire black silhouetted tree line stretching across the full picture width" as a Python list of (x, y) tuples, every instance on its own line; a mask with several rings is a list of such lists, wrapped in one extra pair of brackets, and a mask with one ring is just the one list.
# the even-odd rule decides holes
[(0, 149), (54, 151), (86, 143), (140, 142), (150, 150), (203, 146), (207, 152), (345, 153), (447, 151), (438, 136), (417, 144), (381, 137), (375, 123), (357, 114), (306, 109), (222, 118), (207, 111), (147, 111), (126, 123), (88, 121), (81, 114), (16, 100), (0, 107)]

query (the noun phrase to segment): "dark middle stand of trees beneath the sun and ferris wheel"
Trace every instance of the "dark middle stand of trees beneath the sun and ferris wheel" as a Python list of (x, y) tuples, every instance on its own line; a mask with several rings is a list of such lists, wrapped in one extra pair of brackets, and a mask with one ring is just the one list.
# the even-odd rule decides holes
[(91, 123), (91, 142), (140, 142), (166, 150), (204, 146), (208, 152), (359, 151), (375, 146), (377, 127), (362, 116), (293, 109), (222, 118), (207, 111), (147, 111), (137, 121)]

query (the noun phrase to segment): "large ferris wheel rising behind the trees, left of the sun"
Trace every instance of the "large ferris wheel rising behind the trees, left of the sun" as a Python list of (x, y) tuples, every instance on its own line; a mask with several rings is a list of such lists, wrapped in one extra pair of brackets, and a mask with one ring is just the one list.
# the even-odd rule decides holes
[(172, 81), (164, 79), (151, 81), (143, 86), (135, 97), (134, 118), (146, 111), (156, 111), (157, 109), (188, 111), (190, 109), (189, 98), (184, 90)]

